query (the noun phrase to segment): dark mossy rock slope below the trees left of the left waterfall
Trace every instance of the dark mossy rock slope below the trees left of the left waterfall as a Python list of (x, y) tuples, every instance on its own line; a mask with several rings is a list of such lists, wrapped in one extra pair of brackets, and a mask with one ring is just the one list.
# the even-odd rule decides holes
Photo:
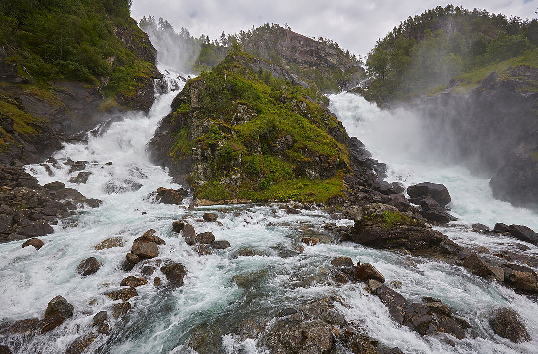
[[(153, 79), (161, 76), (155, 50), (132, 18), (114, 26), (114, 33), (125, 52), (107, 59), (110, 74), (98, 84), (40, 82), (18, 60), (13, 46), (0, 46), (0, 163), (41, 161), (68, 136), (93, 128), (119, 110), (151, 107)], [(128, 75), (120, 55), (131, 58)]]

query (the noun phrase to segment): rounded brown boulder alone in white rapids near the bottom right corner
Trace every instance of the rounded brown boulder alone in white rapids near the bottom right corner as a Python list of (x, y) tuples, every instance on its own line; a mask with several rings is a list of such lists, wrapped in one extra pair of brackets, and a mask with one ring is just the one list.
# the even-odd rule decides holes
[(514, 343), (528, 342), (531, 339), (521, 316), (509, 307), (494, 309), (490, 326), (495, 334)]

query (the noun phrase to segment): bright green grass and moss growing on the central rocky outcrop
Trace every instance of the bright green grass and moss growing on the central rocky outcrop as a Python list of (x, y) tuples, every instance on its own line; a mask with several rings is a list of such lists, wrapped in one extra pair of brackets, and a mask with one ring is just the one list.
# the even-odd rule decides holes
[[(187, 101), (179, 103), (174, 112), (173, 119), (189, 115), (188, 119), (206, 117), (206, 124), (211, 123), (200, 137), (190, 137), (188, 129), (182, 128), (171, 151), (171, 157), (180, 160), (201, 144), (214, 154), (209, 166), (211, 182), (200, 183), (195, 174), (189, 176), (196, 197), (213, 201), (235, 197), (325, 202), (341, 193), (348, 154), (328, 133), (328, 129), (339, 127), (339, 122), (310, 101), (307, 94), (318, 101), (325, 98), (319, 92), (275, 79), (264, 70), (254, 71), (250, 60), (252, 56), (232, 48), (211, 72), (203, 72), (187, 83), (187, 89), (193, 84), (203, 87), (197, 90), (197, 118), (188, 113)], [(234, 124), (238, 112), (246, 122)], [(188, 119), (182, 116), (181, 121)], [(305, 169), (316, 169), (307, 157), (313, 155), (327, 161), (321, 169), (332, 168), (334, 172), (327, 175), (321, 171), (324, 178), (307, 179)], [(222, 182), (237, 174), (241, 176), (240, 186)]]

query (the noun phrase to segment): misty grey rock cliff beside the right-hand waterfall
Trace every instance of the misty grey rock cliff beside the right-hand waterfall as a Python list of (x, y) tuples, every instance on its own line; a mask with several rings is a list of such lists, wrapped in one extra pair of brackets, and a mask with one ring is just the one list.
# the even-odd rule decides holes
[[(493, 176), (494, 196), (538, 208), (538, 69), (493, 72), (468, 94), (452, 81), (419, 105), (429, 137), (471, 170)], [(459, 93), (458, 93), (459, 91)]]

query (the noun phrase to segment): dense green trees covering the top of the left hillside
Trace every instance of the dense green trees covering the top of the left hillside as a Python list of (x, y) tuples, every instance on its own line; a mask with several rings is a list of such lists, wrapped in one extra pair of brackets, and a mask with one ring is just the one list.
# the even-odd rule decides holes
[(130, 5), (130, 0), (4, 2), (0, 45), (8, 48), (7, 60), (17, 64), (19, 76), (41, 88), (64, 80), (97, 86), (108, 76), (105, 94), (128, 97), (150, 79), (153, 64), (116, 36), (129, 31), (139, 42), (145, 36), (129, 17)]

